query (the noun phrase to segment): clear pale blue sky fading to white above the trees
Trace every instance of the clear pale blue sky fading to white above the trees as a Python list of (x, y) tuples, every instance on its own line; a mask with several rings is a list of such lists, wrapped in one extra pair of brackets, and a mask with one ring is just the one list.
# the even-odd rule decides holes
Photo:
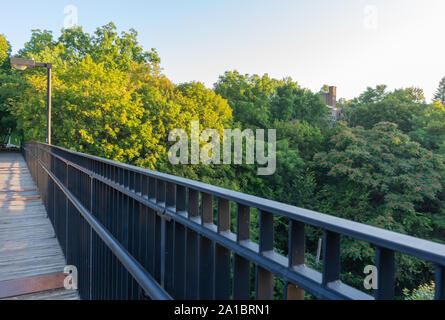
[(87, 32), (110, 21), (156, 48), (174, 82), (212, 87), (226, 70), (290, 76), (318, 91), (336, 85), (417, 86), (430, 100), (445, 76), (445, 0), (21, 0), (2, 1), (0, 33), (14, 52), (31, 29), (60, 34), (77, 8)]

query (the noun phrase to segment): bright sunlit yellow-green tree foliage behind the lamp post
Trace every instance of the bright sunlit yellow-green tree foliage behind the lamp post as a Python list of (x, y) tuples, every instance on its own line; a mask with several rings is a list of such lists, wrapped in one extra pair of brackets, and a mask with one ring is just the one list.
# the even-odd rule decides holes
[[(222, 132), (231, 121), (227, 101), (201, 83), (172, 84), (159, 57), (144, 52), (135, 31), (112, 24), (93, 36), (63, 30), (58, 41), (35, 30), (21, 54), (53, 63), (53, 143), (112, 160), (153, 168), (168, 133), (191, 120)], [(26, 140), (44, 141), (46, 73), (23, 72), (29, 86), (11, 110)]]

